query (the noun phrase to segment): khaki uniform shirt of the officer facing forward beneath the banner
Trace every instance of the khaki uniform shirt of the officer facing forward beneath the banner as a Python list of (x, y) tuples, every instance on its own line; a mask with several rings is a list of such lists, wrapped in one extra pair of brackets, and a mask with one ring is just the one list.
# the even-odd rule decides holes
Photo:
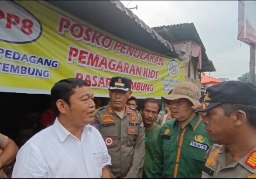
[(112, 177), (141, 178), (145, 129), (138, 110), (125, 107), (121, 119), (109, 105), (99, 108), (93, 126), (99, 129), (111, 157)]

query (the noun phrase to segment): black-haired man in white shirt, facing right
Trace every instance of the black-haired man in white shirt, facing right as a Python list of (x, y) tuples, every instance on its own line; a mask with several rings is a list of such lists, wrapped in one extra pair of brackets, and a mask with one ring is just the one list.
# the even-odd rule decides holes
[(18, 151), (12, 178), (110, 178), (111, 158), (93, 121), (95, 103), (84, 80), (60, 80), (51, 88), (53, 125)]

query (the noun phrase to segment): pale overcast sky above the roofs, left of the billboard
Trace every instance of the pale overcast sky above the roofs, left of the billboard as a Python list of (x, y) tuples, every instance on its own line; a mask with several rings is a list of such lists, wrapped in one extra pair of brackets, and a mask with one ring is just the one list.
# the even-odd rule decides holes
[(121, 2), (128, 8), (138, 5), (133, 13), (150, 27), (193, 22), (217, 70), (212, 77), (237, 80), (249, 71), (249, 45), (237, 40), (238, 1)]

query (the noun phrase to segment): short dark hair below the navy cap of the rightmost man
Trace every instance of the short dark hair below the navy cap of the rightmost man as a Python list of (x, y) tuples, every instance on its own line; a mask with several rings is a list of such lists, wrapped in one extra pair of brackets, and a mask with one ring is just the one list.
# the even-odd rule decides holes
[(230, 103), (223, 103), (219, 106), (225, 111), (225, 116), (229, 116), (231, 113), (237, 110), (244, 111), (249, 124), (256, 129), (256, 106)]

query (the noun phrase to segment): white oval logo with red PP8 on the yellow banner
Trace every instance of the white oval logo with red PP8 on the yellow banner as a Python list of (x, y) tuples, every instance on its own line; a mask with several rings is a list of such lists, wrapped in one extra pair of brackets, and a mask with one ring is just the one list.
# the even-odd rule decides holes
[(28, 44), (40, 38), (43, 27), (25, 7), (10, 0), (1, 1), (0, 41)]

